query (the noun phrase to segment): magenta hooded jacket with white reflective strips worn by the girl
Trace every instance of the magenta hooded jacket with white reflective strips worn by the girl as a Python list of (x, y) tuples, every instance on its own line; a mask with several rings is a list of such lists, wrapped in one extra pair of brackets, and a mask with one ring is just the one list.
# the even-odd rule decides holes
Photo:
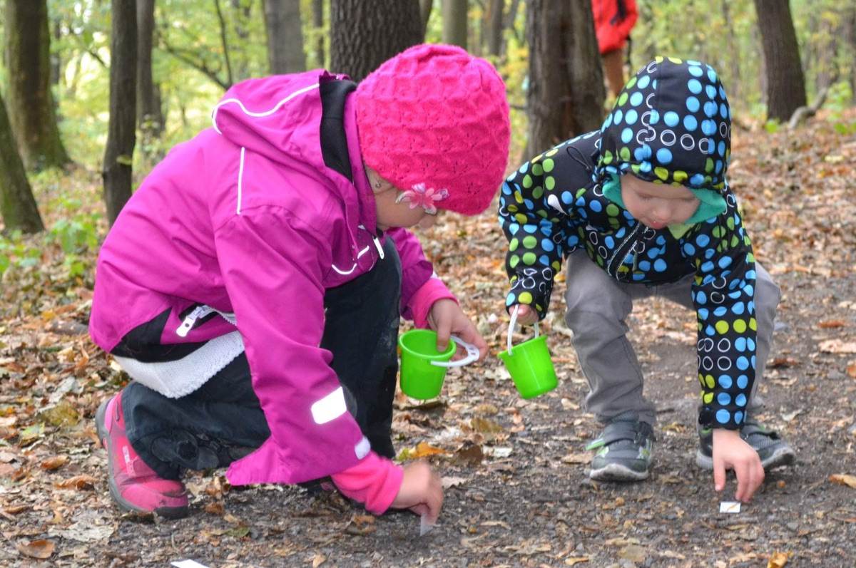
[[(320, 91), (337, 79), (315, 70), (233, 86), (214, 127), (152, 170), (98, 258), (90, 334), (104, 350), (158, 316), (162, 344), (241, 332), (270, 438), (231, 464), (235, 485), (302, 482), (374, 455), (318, 346), (324, 291), (372, 269), (382, 251), (353, 97), (340, 120), (354, 182), (324, 161)], [(452, 295), (413, 234), (386, 236), (401, 257), (402, 314), (425, 326), (431, 303)], [(193, 305), (234, 314), (235, 325), (213, 317), (181, 336)]]

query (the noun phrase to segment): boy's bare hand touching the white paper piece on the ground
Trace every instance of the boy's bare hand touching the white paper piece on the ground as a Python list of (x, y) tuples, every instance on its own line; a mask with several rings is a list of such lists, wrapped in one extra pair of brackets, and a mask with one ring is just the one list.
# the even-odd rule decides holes
[(737, 493), (734, 498), (748, 503), (764, 482), (764, 467), (758, 452), (740, 439), (737, 430), (713, 430), (713, 484), (716, 491), (725, 488), (725, 470), (734, 470)]

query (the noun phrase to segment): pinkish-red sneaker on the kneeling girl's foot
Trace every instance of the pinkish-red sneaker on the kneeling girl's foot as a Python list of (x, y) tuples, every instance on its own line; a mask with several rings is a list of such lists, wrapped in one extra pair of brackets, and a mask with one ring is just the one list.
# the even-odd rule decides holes
[(107, 449), (110, 494), (132, 512), (156, 512), (167, 518), (187, 515), (184, 483), (163, 479), (134, 452), (125, 434), (122, 393), (104, 400), (95, 412), (98, 439)]

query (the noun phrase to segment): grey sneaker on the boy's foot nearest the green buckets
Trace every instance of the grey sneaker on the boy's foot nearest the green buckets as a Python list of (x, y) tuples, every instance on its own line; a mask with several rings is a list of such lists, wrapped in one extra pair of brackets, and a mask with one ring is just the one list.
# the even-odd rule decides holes
[(597, 450), (591, 459), (591, 479), (609, 482), (647, 479), (654, 450), (654, 430), (651, 424), (639, 422), (634, 412), (625, 412), (610, 420), (586, 450)]

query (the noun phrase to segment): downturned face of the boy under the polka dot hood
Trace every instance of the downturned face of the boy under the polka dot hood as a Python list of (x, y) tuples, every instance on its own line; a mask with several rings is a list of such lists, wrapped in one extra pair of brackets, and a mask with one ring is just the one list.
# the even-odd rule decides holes
[(621, 199), (633, 218), (654, 229), (687, 222), (699, 204), (684, 186), (655, 184), (631, 174), (621, 176)]

